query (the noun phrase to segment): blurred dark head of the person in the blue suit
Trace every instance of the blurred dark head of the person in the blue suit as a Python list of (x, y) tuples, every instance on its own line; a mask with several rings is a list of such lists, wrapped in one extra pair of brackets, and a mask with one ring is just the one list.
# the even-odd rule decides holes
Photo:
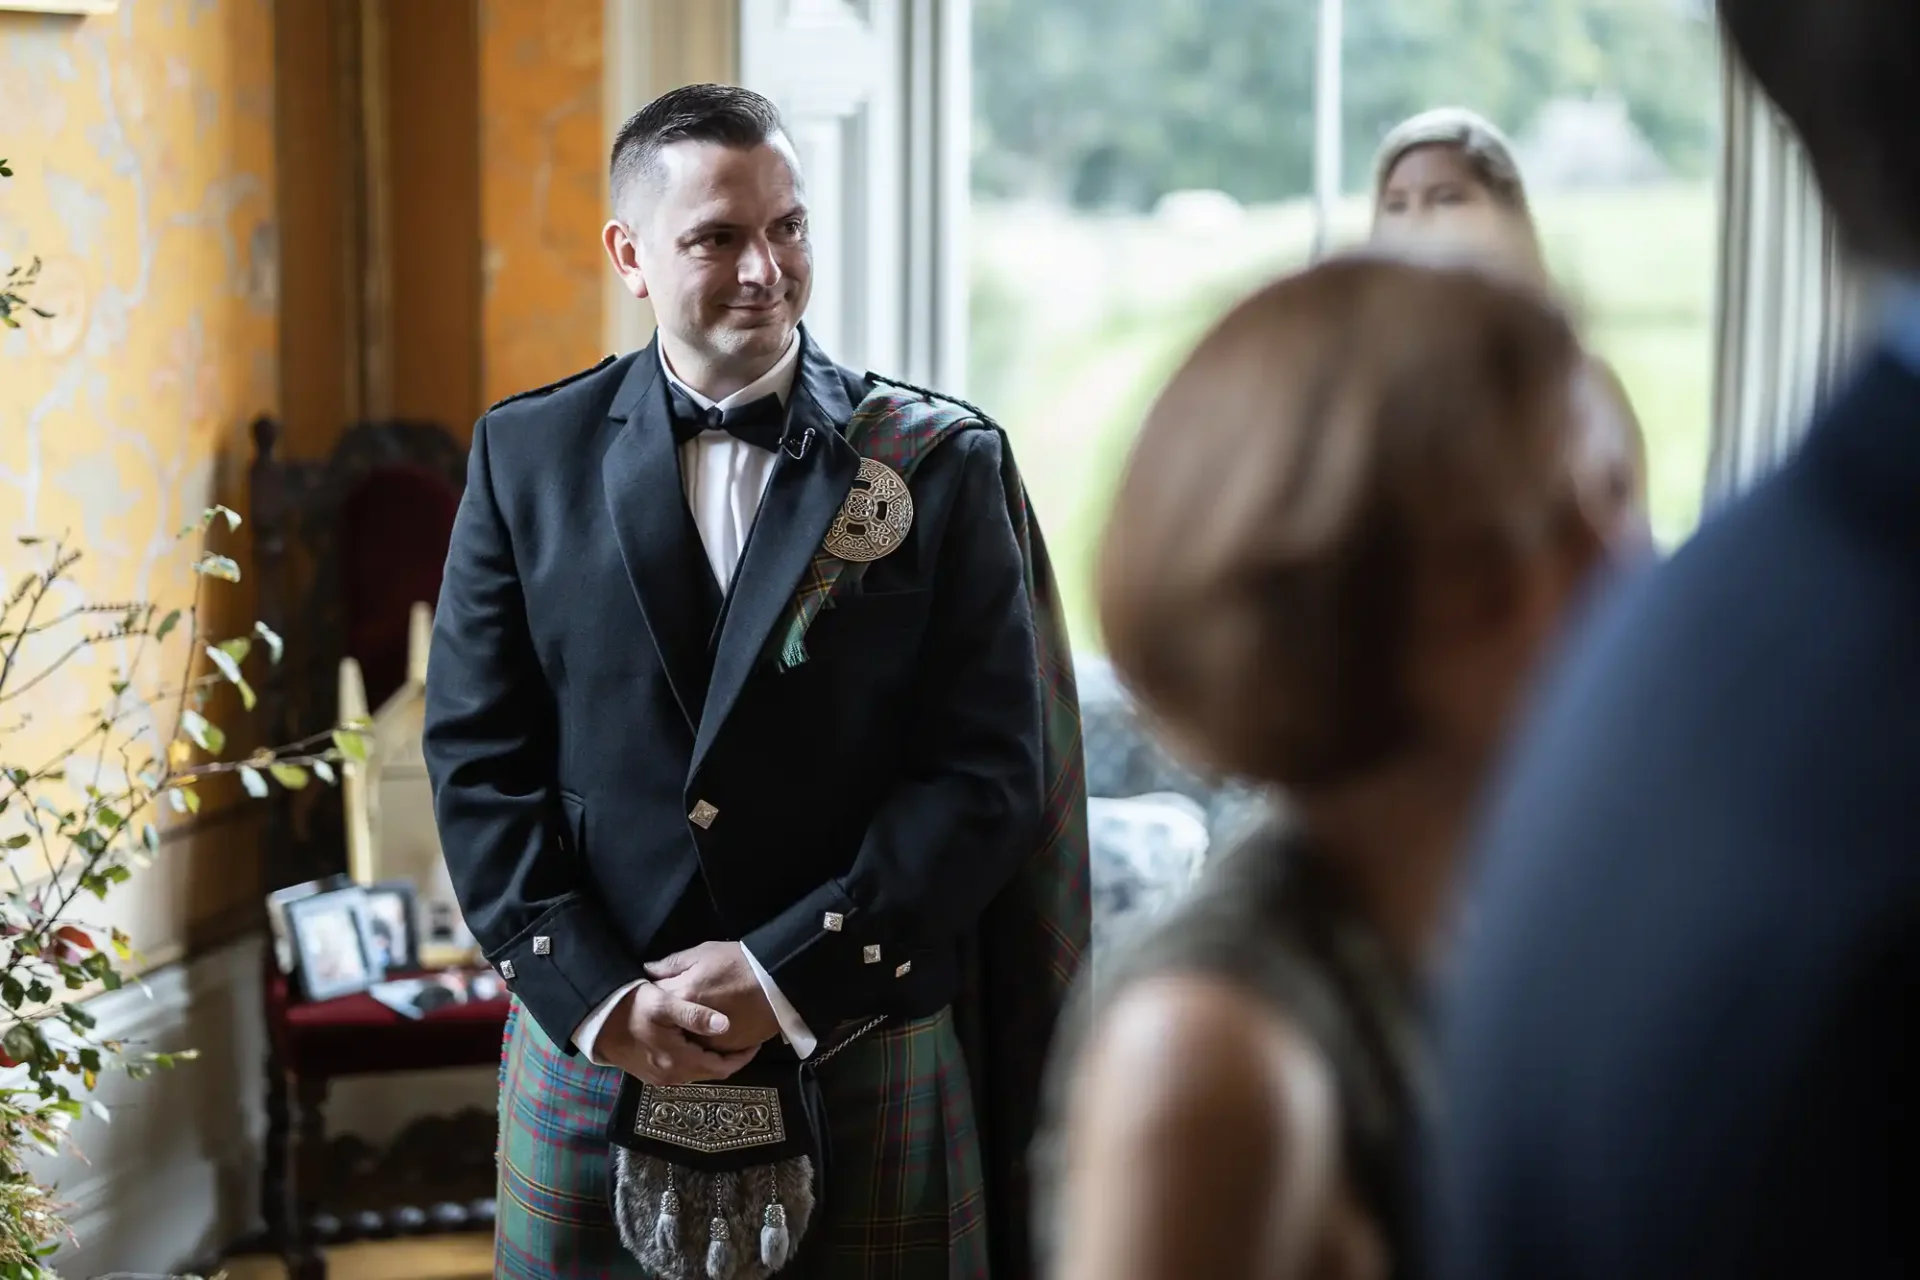
[(1920, 271), (1920, 0), (1720, 0), (1849, 244)]

